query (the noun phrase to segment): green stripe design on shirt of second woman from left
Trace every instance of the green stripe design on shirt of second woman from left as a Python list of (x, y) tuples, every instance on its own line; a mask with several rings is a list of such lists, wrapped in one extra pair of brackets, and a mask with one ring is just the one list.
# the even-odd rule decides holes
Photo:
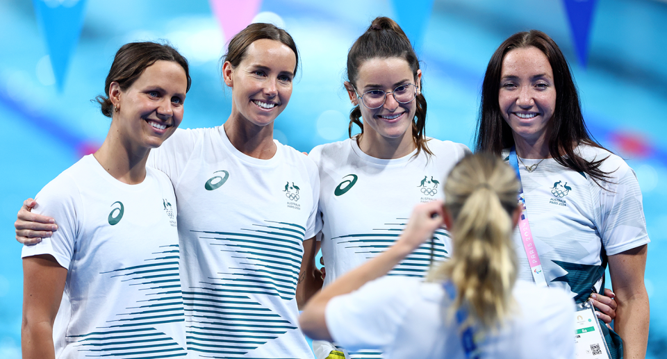
[(238, 232), (193, 232), (231, 253), (235, 264), (229, 272), (183, 292), (188, 350), (211, 358), (243, 356), (298, 329), (255, 298), (294, 299), (304, 252), (303, 226), (265, 221)]

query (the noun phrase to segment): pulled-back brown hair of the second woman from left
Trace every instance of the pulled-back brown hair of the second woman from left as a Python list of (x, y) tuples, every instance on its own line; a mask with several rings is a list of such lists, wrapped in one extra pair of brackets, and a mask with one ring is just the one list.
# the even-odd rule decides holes
[(294, 74), (296, 75), (299, 67), (299, 51), (297, 51), (297, 44), (295, 44), (294, 39), (282, 28), (279, 28), (274, 24), (265, 24), (261, 22), (249, 24), (229, 40), (227, 52), (220, 58), (221, 65), (224, 64), (224, 62), (229, 61), (231, 67), (237, 67), (245, 57), (245, 51), (250, 44), (261, 39), (282, 42), (294, 51), (294, 56), (297, 59), (296, 65), (294, 65)]

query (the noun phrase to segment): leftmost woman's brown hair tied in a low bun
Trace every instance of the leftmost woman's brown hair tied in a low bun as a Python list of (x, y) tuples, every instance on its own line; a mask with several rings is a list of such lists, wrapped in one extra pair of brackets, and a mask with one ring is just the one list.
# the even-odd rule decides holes
[(188, 92), (192, 84), (188, 69), (188, 60), (179, 51), (176, 51), (169, 44), (130, 42), (120, 47), (113, 58), (109, 74), (106, 76), (106, 81), (104, 81), (104, 93), (106, 96), (99, 95), (92, 100), (99, 103), (102, 115), (113, 117), (113, 103), (109, 99), (109, 86), (111, 83), (118, 83), (120, 89), (125, 91), (134, 81), (137, 81), (147, 67), (160, 60), (176, 62), (183, 67), (183, 70), (186, 72), (186, 78), (188, 78), (188, 87), (186, 87), (186, 92)]

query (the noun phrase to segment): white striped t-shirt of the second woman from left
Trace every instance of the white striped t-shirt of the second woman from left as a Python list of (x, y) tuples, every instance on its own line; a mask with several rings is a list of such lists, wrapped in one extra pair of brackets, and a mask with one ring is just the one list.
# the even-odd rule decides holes
[(188, 350), (199, 356), (313, 356), (295, 290), (303, 241), (320, 230), (320, 180), (312, 160), (274, 142), (273, 158), (252, 158), (219, 126), (176, 130), (151, 151), (176, 191)]

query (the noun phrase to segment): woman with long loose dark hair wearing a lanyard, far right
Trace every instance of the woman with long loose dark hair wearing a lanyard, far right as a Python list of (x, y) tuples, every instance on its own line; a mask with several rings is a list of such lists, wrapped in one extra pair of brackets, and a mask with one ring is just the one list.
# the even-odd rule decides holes
[(506, 158), (520, 177), (529, 231), (514, 238), (519, 249), (530, 243), (537, 253), (530, 262), (525, 252), (518, 257), (519, 277), (563, 287), (577, 303), (592, 297), (600, 306), (609, 265), (618, 303), (614, 331), (623, 338), (621, 346), (614, 331), (607, 333), (611, 356), (643, 358), (650, 240), (639, 183), (622, 158), (588, 134), (568, 62), (545, 33), (516, 33), (493, 53), (482, 85), (477, 151)]

